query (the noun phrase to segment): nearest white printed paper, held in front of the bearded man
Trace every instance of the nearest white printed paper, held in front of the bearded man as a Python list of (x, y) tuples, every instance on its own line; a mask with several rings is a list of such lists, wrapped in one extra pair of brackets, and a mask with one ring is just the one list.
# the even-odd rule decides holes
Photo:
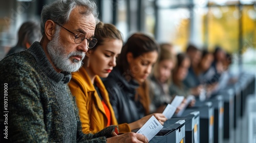
[(153, 115), (137, 132), (138, 134), (143, 134), (146, 136), (148, 141), (150, 141), (163, 126), (158, 122), (156, 117)]

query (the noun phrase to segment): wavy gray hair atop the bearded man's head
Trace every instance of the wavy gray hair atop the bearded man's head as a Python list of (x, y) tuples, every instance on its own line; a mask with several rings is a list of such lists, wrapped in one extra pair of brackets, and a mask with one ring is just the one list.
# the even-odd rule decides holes
[(41, 34), (45, 34), (45, 23), (47, 20), (53, 20), (60, 25), (64, 25), (70, 18), (71, 11), (77, 6), (86, 8), (84, 15), (93, 14), (96, 24), (99, 22), (97, 5), (90, 0), (58, 0), (51, 5), (45, 5), (41, 12)]

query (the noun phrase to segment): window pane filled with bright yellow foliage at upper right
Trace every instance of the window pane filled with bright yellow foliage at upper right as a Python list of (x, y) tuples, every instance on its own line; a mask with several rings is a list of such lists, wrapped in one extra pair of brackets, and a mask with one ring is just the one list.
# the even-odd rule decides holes
[(208, 49), (219, 45), (229, 53), (239, 49), (239, 8), (236, 6), (210, 7), (207, 15)]

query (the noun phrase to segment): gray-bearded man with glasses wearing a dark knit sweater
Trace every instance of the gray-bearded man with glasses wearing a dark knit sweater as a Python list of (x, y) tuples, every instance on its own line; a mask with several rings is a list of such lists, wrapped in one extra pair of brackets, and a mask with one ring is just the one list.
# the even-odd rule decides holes
[(70, 73), (80, 68), (88, 48), (97, 42), (93, 38), (96, 9), (89, 0), (59, 0), (45, 6), (41, 41), (0, 62), (3, 141), (147, 142), (145, 136), (136, 133), (114, 136), (115, 126), (95, 135), (81, 132), (67, 83)]

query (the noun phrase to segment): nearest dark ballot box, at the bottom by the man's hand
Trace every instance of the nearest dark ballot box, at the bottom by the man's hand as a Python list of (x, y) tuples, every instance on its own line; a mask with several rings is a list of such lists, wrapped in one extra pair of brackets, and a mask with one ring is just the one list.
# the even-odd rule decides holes
[(184, 143), (185, 142), (185, 120), (179, 120), (174, 124), (162, 128), (150, 142), (159, 143)]

